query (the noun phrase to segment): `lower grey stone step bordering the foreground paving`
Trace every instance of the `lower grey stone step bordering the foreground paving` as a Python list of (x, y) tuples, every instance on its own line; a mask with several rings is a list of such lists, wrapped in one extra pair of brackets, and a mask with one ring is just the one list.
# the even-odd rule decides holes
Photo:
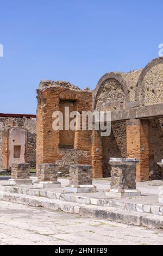
[(163, 229), (163, 217), (151, 214), (129, 212), (111, 207), (83, 205), (72, 202), (64, 202), (58, 199), (48, 199), (44, 197), (25, 196), (24, 194), (14, 194), (0, 192), (0, 199), (18, 204), (43, 207), (49, 210), (61, 210), (71, 214), (79, 214), (85, 217), (94, 217), (108, 221), (120, 222), (124, 224), (143, 226), (148, 228)]

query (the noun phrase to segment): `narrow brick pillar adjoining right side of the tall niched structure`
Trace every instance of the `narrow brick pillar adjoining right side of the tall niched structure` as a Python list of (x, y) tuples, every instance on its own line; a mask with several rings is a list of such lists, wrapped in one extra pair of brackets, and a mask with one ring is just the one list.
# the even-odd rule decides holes
[(92, 131), (92, 167), (93, 178), (103, 178), (102, 143), (98, 131)]

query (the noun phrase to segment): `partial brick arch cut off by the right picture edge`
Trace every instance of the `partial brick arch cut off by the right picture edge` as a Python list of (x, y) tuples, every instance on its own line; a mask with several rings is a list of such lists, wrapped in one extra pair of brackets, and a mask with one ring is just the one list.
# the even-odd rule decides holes
[(139, 80), (137, 81), (137, 84), (136, 84), (136, 93), (135, 93), (136, 102), (139, 102), (139, 104), (140, 104), (140, 93), (141, 93), (141, 89), (142, 89), (142, 86), (143, 86), (142, 84), (143, 84), (144, 78), (146, 77), (147, 73), (152, 68), (154, 68), (154, 66), (159, 65), (159, 64), (163, 64), (163, 57), (153, 59), (141, 71), (141, 74), (139, 76)]

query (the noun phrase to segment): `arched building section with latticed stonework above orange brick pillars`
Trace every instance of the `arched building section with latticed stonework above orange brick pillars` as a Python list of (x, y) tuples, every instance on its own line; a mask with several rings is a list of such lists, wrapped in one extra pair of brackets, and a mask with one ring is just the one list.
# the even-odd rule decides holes
[[(101, 138), (93, 131), (94, 176), (109, 175), (110, 157), (136, 157), (140, 161), (136, 167), (137, 180), (162, 178), (158, 165), (163, 158), (162, 85), (163, 58), (152, 60), (140, 70), (107, 73), (99, 80), (93, 92), (93, 109), (111, 111), (112, 126), (124, 121), (127, 129), (125, 132), (123, 125), (122, 129), (115, 127), (114, 131), (112, 127), (108, 138)], [(123, 132), (119, 134), (118, 129)]]

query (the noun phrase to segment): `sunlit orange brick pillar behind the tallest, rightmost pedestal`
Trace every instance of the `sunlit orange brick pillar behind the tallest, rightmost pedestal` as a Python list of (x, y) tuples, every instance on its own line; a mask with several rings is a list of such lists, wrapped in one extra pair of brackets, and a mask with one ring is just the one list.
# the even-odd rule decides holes
[(149, 180), (149, 135), (148, 120), (127, 120), (127, 155), (139, 160), (136, 180)]

